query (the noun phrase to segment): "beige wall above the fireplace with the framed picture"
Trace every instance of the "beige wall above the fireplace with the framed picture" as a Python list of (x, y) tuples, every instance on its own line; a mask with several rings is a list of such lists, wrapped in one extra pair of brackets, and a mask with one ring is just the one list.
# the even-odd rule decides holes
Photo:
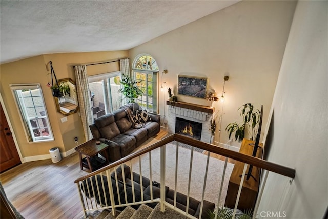
[[(208, 77), (210, 87), (219, 96), (223, 77), (229, 75), (221, 136), (219, 139), (217, 132), (215, 137), (227, 143), (225, 128), (231, 122), (241, 122), (237, 109), (245, 103), (257, 108), (263, 105), (265, 127), (295, 5), (293, 1), (242, 1), (135, 47), (129, 56), (132, 62), (140, 53), (152, 55), (160, 72), (168, 69), (163, 81), (175, 95), (179, 74)], [(205, 99), (177, 97), (210, 105)], [(167, 98), (167, 92), (160, 94), (161, 115)], [(221, 115), (221, 102), (214, 106)]]

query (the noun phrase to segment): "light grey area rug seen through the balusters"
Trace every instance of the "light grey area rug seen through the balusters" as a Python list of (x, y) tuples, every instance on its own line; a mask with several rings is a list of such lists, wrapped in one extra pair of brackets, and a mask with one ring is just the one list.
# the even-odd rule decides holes
[[(152, 142), (152, 141), (150, 141)], [(150, 143), (149, 142), (149, 143)], [(148, 145), (148, 144), (147, 144)], [(183, 147), (178, 149), (178, 174), (177, 174), (177, 191), (188, 194), (189, 166), (191, 150)], [(150, 178), (149, 175), (149, 153), (140, 156), (142, 175)], [(160, 182), (160, 148), (151, 151), (152, 162), (152, 180)], [(206, 170), (207, 155), (194, 151), (193, 166), (191, 174), (190, 196), (201, 200), (204, 175)], [(139, 173), (139, 159), (134, 158), (132, 161), (132, 170)], [(166, 145), (166, 185), (174, 189), (175, 180), (175, 163), (176, 163), (176, 145), (171, 143)], [(130, 162), (127, 163), (130, 166)], [(233, 164), (228, 163), (226, 174), (223, 179), (222, 194), (220, 205), (224, 205), (226, 200), (229, 178), (233, 169)], [(210, 157), (207, 183), (204, 199), (217, 204), (218, 195), (221, 185), (224, 162)]]

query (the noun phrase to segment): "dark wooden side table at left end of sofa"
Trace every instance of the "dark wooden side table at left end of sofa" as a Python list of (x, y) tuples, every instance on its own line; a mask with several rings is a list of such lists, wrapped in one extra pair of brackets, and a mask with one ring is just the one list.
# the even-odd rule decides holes
[[(92, 139), (75, 147), (75, 150), (79, 153), (80, 156), (81, 170), (92, 172), (109, 164), (107, 152), (108, 145), (103, 142), (100, 142), (100, 144), (97, 145), (96, 142), (97, 141), (95, 139)], [(98, 153), (102, 151), (105, 152), (105, 160), (98, 156)], [(82, 158), (82, 155), (85, 157)]]

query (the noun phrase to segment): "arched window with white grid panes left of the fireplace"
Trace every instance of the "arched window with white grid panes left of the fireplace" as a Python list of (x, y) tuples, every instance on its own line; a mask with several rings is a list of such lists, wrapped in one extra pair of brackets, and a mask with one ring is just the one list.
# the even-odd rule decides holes
[(158, 65), (148, 54), (138, 55), (132, 63), (132, 74), (137, 86), (144, 93), (139, 96), (137, 103), (150, 112), (157, 113), (157, 82)]

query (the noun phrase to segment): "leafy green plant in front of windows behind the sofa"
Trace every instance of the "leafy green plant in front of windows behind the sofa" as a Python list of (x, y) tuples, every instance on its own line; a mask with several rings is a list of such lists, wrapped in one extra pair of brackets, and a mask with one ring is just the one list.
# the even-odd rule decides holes
[(134, 103), (135, 99), (142, 95), (142, 90), (137, 86), (137, 82), (129, 75), (122, 74), (120, 83), (122, 87), (118, 92), (122, 93), (127, 103)]

